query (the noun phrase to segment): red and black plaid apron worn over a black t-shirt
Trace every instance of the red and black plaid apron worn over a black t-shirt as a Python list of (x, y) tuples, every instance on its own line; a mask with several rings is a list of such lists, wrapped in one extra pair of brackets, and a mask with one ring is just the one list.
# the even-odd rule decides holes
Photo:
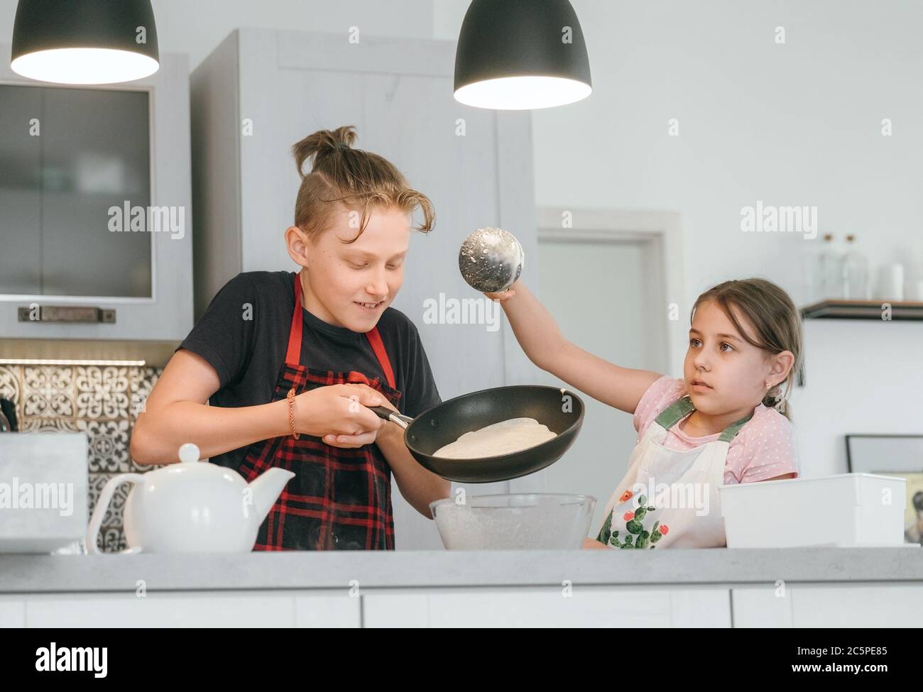
[[(360, 382), (397, 406), (401, 392), (394, 388), (394, 373), (378, 328), (366, 332), (366, 338), (388, 384), (354, 371), (334, 373), (301, 365), (303, 324), (301, 281), (296, 274), (292, 328), (272, 400), (285, 399), (292, 387), (301, 394)], [(342, 449), (312, 435), (273, 437), (252, 445), (239, 471), (249, 482), (274, 466), (295, 475), (259, 527), (254, 550), (394, 549), (391, 470), (378, 445)]]

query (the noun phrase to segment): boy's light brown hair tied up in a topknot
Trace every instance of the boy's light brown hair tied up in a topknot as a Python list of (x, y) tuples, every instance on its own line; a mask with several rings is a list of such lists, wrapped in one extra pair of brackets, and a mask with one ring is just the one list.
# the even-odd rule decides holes
[[(335, 130), (318, 130), (292, 147), (292, 155), (301, 175), (301, 186), (294, 205), (294, 225), (316, 237), (330, 226), (337, 203), (349, 210), (362, 210), (359, 233), (344, 243), (353, 243), (366, 230), (373, 209), (396, 207), (413, 213), (419, 207), (424, 221), (417, 230), (433, 229), (436, 212), (423, 193), (407, 184), (403, 174), (378, 154), (353, 149), (354, 125)], [(312, 161), (311, 171), (304, 172), (305, 161)]]

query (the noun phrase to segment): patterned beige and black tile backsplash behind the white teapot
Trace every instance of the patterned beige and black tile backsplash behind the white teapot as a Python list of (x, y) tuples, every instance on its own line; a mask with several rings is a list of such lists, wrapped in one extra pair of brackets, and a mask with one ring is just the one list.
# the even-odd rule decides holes
[[(116, 473), (145, 473), (128, 453), (131, 430), (161, 368), (124, 365), (0, 365), (0, 398), (16, 404), (21, 432), (84, 432), (90, 515)], [(116, 489), (100, 531), (100, 549), (126, 546), (122, 510), (131, 483)]]

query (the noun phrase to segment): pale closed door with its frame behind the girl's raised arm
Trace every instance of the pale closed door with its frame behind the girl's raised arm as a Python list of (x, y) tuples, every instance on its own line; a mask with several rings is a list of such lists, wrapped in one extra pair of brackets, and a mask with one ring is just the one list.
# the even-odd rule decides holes
[[(670, 363), (680, 344), (668, 308), (682, 285), (678, 215), (571, 210), (572, 225), (562, 228), (564, 218), (559, 210), (539, 210), (536, 292), (562, 333), (610, 363), (677, 376)], [(541, 377), (541, 384), (567, 387), (555, 376)], [(593, 495), (592, 535), (609, 495), (628, 470), (637, 431), (631, 414), (589, 396), (582, 399), (586, 411), (573, 447), (533, 474), (541, 479), (533, 479), (531, 487), (511, 482), (519, 486), (511, 492)]]

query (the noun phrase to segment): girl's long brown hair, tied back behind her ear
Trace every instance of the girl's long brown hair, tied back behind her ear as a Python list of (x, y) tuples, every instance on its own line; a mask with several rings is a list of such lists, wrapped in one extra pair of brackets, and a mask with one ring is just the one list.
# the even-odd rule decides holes
[[(782, 393), (782, 383), (775, 385), (763, 397), (762, 403), (770, 408), (775, 408), (785, 418), (791, 420), (792, 409), (788, 403), (788, 394), (792, 388), (792, 381), (796, 373), (803, 372), (803, 350), (801, 334), (801, 316), (792, 299), (782, 288), (772, 281), (764, 279), (740, 279), (725, 281), (713, 286), (702, 293), (689, 314), (689, 321), (695, 315), (700, 304), (714, 301), (721, 311), (725, 313), (731, 323), (737, 328), (743, 340), (762, 349), (765, 352), (781, 353), (790, 351), (795, 356), (795, 362), (788, 376), (785, 377), (785, 393)], [(756, 339), (751, 339), (732, 307), (736, 308), (756, 332)]]

